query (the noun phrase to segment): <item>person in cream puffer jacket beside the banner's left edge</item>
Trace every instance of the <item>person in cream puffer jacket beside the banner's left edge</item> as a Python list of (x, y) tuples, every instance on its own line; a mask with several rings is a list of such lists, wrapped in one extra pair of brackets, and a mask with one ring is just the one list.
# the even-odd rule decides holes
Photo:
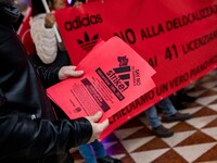
[[(48, 5), (51, 11), (66, 8), (64, 0), (48, 0)], [(56, 39), (53, 13), (46, 13), (41, 0), (31, 0), (31, 8), (30, 35), (36, 48), (33, 55), (35, 63), (43, 66), (71, 65), (63, 42)]]

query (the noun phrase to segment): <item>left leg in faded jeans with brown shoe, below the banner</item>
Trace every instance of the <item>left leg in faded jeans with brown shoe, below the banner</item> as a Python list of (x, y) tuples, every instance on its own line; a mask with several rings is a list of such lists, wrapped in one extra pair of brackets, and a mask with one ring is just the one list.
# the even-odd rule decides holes
[(156, 108), (153, 105), (150, 109), (144, 111), (146, 114), (146, 118), (152, 127), (152, 131), (158, 137), (170, 137), (174, 135), (174, 131), (164, 127), (159, 117), (157, 115)]

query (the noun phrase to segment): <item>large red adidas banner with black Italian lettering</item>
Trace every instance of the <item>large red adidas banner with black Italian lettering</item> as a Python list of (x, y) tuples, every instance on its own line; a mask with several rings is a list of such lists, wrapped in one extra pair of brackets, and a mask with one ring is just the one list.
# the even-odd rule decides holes
[(216, 67), (217, 0), (104, 0), (55, 16), (74, 64), (119, 36), (156, 71), (157, 87), (112, 116), (114, 128)]

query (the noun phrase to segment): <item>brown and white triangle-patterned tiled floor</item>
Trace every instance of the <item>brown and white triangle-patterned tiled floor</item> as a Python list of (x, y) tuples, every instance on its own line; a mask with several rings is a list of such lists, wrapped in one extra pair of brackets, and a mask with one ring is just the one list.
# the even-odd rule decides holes
[[(164, 124), (175, 131), (173, 137), (154, 136), (140, 114), (103, 140), (107, 153), (123, 163), (217, 163), (217, 73), (199, 79), (189, 93), (197, 100), (180, 112), (193, 117)], [(84, 162), (78, 151), (74, 158)]]

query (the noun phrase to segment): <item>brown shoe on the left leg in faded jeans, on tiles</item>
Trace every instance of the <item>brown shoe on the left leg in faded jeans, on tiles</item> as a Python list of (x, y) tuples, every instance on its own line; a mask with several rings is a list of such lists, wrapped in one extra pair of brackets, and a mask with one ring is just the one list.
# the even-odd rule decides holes
[(171, 137), (174, 135), (174, 131), (164, 127), (163, 125), (159, 125), (158, 127), (154, 127), (152, 128), (152, 131), (161, 137), (161, 138), (168, 138)]

